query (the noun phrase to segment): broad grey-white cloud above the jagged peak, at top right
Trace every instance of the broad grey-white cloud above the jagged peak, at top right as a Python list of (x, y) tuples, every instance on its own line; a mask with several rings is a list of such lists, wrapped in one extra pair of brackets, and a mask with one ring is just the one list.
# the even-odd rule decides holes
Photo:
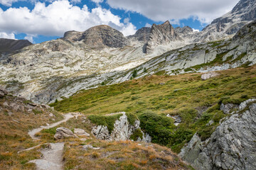
[(239, 0), (107, 0), (112, 8), (141, 13), (153, 21), (180, 20), (198, 17), (202, 23), (210, 23), (213, 19), (230, 11)]

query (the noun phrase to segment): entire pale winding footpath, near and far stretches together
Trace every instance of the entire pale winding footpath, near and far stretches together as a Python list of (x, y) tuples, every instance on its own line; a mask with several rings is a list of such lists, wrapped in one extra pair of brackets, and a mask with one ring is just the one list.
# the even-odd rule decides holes
[[(53, 123), (51, 125), (41, 126), (40, 128), (33, 129), (28, 132), (28, 135), (30, 135), (33, 140), (40, 140), (38, 137), (36, 137), (36, 133), (40, 132), (43, 129), (54, 128), (55, 126), (60, 125), (60, 123), (64, 123), (68, 121), (70, 118), (74, 118), (74, 117), (78, 118), (79, 115), (81, 114), (68, 113), (64, 115), (63, 120), (60, 120), (59, 122)], [(48, 145), (49, 145), (48, 148), (41, 150), (41, 153), (43, 154), (42, 159), (35, 159), (28, 163), (36, 164), (36, 169), (38, 170), (62, 170), (63, 169), (63, 149), (64, 149), (65, 143), (64, 142), (48, 143)], [(31, 148), (28, 148), (25, 150), (29, 150), (29, 149)]]

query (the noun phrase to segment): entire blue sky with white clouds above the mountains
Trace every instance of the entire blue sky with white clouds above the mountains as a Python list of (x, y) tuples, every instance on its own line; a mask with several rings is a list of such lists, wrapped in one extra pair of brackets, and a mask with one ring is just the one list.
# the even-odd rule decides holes
[(239, 0), (0, 0), (0, 38), (33, 43), (108, 25), (125, 36), (153, 23), (202, 30)]

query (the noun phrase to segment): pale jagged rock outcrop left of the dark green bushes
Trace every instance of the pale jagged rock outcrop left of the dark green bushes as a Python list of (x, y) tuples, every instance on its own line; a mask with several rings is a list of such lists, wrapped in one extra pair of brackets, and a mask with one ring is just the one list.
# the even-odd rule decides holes
[[(119, 141), (119, 140), (129, 140), (132, 134), (139, 128), (139, 120), (135, 120), (134, 125), (130, 125), (127, 119), (127, 115), (123, 115), (114, 122), (114, 130), (110, 133), (107, 126), (96, 125), (92, 128), (92, 134), (97, 137), (99, 140), (108, 140), (108, 141)], [(142, 130), (140, 130), (142, 132)], [(144, 132), (142, 132), (142, 138), (137, 140), (143, 142), (151, 142), (151, 137)]]

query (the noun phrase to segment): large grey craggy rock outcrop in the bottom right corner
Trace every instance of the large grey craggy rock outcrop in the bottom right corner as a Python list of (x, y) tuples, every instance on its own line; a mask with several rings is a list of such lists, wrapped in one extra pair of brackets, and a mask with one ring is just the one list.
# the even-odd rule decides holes
[(179, 154), (195, 169), (248, 169), (256, 167), (256, 103), (248, 100), (221, 123), (206, 141), (194, 135)]

